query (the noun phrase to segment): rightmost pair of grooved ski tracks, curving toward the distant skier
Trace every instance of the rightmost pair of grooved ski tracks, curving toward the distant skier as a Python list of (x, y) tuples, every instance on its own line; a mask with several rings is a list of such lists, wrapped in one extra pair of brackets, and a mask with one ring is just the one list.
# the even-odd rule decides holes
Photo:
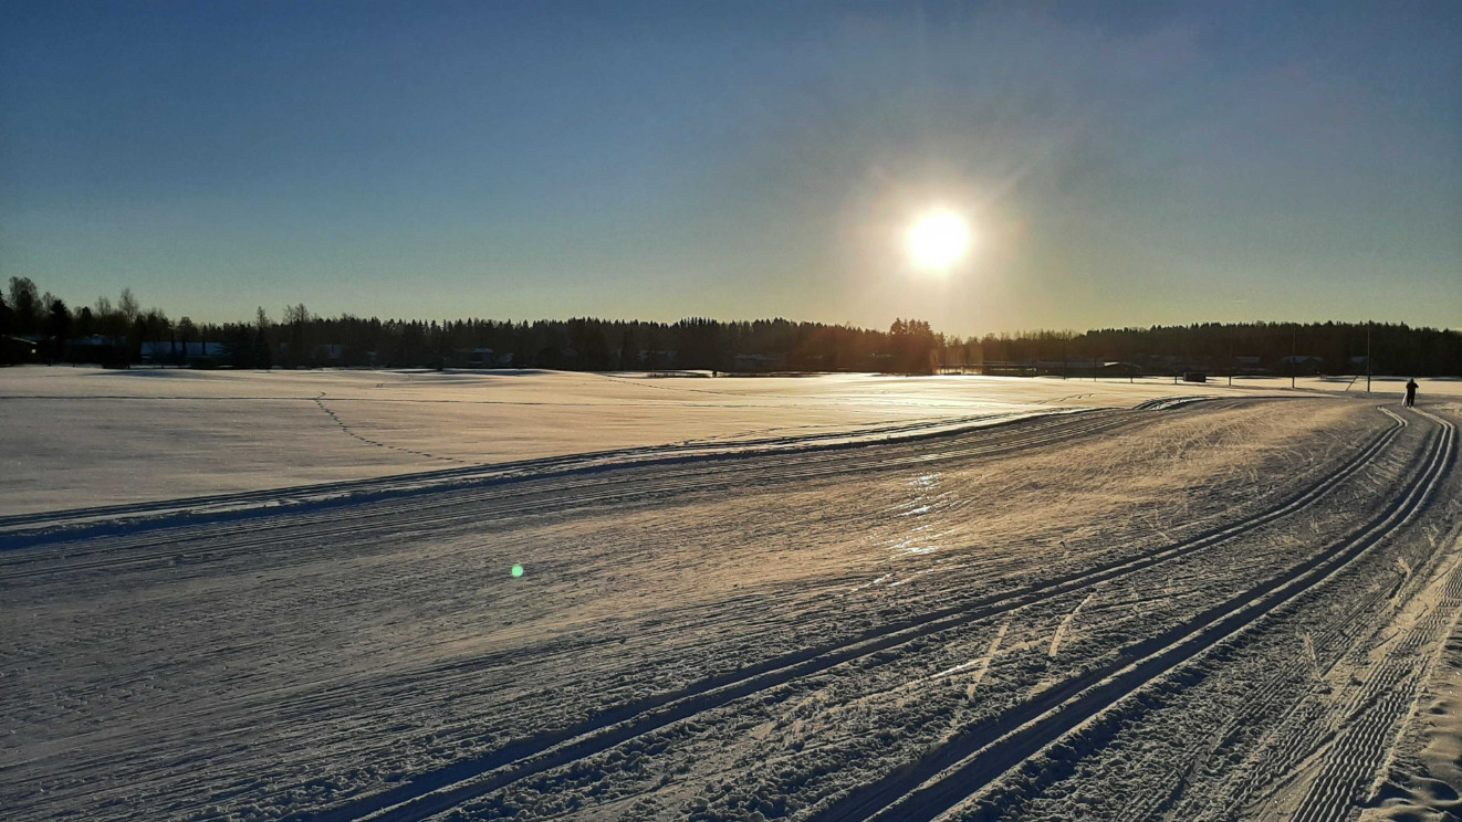
[[(1428, 415), (1430, 418), (1430, 415)], [(883, 780), (854, 790), (813, 822), (931, 822), (1124, 698), (1174, 673), (1189, 660), (1256, 625), (1279, 606), (1333, 577), (1409, 524), (1452, 469), (1455, 426), (1430, 418), (1424, 470), (1404, 495), (1339, 546), (1270, 578), (1193, 619), (1126, 648), (1121, 658), (1042, 694), (999, 720), (966, 730)]]

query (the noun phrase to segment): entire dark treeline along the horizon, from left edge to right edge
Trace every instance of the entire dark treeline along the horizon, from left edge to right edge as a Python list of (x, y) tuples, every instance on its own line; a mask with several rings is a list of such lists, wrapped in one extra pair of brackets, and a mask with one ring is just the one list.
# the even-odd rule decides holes
[[(1368, 339), (1367, 339), (1368, 337)], [(0, 293), (0, 361), (136, 362), (193, 366), (518, 366), (716, 371), (885, 371), (940, 368), (1054, 374), (1118, 364), (1124, 372), (1205, 369), (1250, 374), (1462, 375), (1462, 333), (1390, 323), (1200, 323), (1140, 329), (1019, 331), (952, 337), (921, 320), (889, 330), (791, 320), (678, 323), (624, 320), (380, 320), (322, 317), (303, 304), (275, 321), (259, 308), (238, 323), (177, 321), (114, 302), (70, 307), (12, 277)], [(1368, 346), (1368, 347), (1367, 347)], [(1085, 364), (1085, 365), (1083, 365)]]

